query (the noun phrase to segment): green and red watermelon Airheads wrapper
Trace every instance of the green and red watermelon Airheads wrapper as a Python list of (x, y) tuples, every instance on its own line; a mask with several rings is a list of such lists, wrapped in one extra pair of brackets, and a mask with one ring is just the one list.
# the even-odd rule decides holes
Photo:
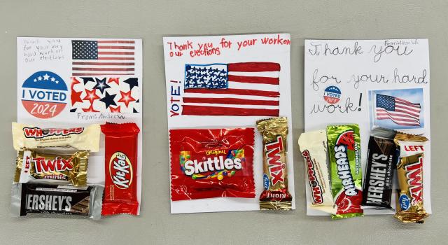
[(330, 125), (327, 139), (332, 195), (337, 207), (332, 218), (363, 216), (359, 126)]

